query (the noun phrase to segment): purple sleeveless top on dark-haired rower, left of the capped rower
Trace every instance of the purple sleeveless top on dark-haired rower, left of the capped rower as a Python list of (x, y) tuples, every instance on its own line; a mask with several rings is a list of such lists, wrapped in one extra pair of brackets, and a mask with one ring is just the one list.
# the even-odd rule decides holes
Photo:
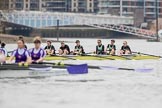
[(19, 62), (26, 62), (27, 60), (27, 56), (26, 56), (26, 49), (24, 49), (24, 52), (22, 54), (19, 54), (19, 51), (18, 49), (16, 50), (16, 53), (15, 53), (15, 62), (16, 63), (19, 63)]

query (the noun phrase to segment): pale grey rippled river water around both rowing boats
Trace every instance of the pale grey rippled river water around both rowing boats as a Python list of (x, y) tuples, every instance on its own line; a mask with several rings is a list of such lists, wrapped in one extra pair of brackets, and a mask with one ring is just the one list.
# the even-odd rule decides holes
[[(75, 39), (70, 48), (75, 45)], [(86, 52), (95, 50), (97, 39), (80, 39)], [(110, 40), (103, 39), (103, 44)], [(116, 40), (120, 49), (124, 40)], [(162, 55), (162, 43), (127, 39), (133, 51)], [(58, 49), (60, 43), (53, 43)], [(45, 44), (43, 44), (45, 45)], [(13, 50), (15, 44), (7, 45)], [(28, 47), (33, 47), (28, 44)], [(89, 70), (85, 75), (47, 78), (0, 79), (0, 108), (161, 108), (162, 60), (80, 61), (96, 66), (153, 68), (152, 72)]]

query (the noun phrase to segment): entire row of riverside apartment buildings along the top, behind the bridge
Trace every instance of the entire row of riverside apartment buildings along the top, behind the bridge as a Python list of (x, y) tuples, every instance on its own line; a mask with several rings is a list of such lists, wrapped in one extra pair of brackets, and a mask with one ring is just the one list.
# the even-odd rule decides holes
[[(156, 18), (156, 0), (0, 0), (0, 9), (50, 12), (100, 13)], [(162, 0), (158, 0), (162, 17)]]

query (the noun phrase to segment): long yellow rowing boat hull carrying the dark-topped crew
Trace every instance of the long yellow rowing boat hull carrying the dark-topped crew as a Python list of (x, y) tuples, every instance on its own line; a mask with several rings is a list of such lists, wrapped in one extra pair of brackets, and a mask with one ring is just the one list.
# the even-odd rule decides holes
[(158, 56), (150, 56), (150, 55), (143, 55), (143, 54), (133, 54), (133, 55), (67, 55), (67, 56), (46, 56), (45, 60), (147, 60), (153, 59), (157, 60), (160, 59)]

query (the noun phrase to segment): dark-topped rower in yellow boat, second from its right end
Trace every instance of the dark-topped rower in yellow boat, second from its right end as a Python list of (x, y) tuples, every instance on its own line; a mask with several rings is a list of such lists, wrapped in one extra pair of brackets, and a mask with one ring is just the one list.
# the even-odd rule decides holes
[(108, 55), (115, 55), (116, 46), (114, 44), (115, 40), (111, 40), (111, 43), (107, 45), (106, 52)]

